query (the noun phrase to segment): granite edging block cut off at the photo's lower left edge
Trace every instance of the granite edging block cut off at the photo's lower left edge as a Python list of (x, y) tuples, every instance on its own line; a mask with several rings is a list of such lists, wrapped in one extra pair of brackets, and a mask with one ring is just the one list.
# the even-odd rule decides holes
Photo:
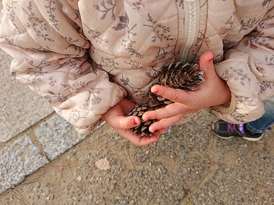
[(0, 194), (49, 162), (27, 135), (0, 150), (0, 156)]

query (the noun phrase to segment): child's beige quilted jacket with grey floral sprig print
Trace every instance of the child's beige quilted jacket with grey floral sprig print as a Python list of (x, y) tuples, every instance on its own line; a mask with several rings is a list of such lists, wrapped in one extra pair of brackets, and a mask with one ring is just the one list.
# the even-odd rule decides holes
[(2, 3), (0, 47), (14, 58), (12, 76), (80, 134), (123, 97), (145, 103), (163, 64), (198, 63), (206, 51), (233, 96), (229, 108), (210, 113), (231, 123), (253, 121), (274, 95), (274, 0)]

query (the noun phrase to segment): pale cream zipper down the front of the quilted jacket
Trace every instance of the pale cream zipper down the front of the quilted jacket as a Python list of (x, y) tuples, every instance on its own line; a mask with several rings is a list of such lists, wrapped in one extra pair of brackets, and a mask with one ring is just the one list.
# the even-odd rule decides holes
[(195, 45), (200, 25), (200, 3), (199, 0), (184, 0), (184, 40), (180, 48), (179, 61), (189, 61), (190, 51)]

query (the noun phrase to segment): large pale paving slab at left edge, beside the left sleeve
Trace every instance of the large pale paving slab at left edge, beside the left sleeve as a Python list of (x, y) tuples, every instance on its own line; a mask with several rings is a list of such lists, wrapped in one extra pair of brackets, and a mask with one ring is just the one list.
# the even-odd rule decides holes
[(18, 135), (54, 112), (46, 100), (11, 77), (11, 60), (0, 49), (0, 142)]

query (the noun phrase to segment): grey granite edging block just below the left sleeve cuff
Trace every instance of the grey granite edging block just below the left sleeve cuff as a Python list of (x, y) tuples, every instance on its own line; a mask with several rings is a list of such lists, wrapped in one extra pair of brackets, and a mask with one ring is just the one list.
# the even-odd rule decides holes
[(50, 160), (86, 138), (77, 134), (74, 127), (58, 115), (41, 123), (36, 128), (35, 135)]

